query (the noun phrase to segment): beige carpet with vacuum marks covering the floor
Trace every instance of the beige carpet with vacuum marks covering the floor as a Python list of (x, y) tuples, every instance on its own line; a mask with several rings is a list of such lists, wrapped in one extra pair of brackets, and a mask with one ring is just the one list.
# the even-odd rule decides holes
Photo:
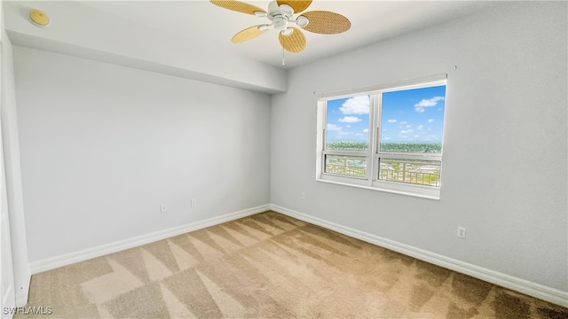
[(568, 318), (568, 309), (274, 212), (32, 277), (15, 318)]

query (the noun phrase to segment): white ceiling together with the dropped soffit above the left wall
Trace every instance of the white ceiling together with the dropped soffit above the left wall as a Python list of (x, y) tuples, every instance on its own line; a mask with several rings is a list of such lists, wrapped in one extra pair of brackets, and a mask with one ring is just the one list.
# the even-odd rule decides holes
[[(245, 2), (261, 8), (269, 4), (269, 1)], [(285, 66), (281, 64), (283, 51), (278, 34), (273, 29), (248, 42), (231, 43), (234, 34), (263, 24), (266, 18), (226, 10), (209, 0), (4, 1), (4, 18), (8, 35), (16, 45), (130, 63), (129, 66), (201, 81), (225, 79), (222, 84), (272, 93), (286, 90), (284, 78), (290, 68), (453, 19), (464, 19), (492, 10), (498, 4), (315, 0), (305, 12), (325, 10), (343, 14), (351, 20), (351, 29), (339, 35), (304, 31), (306, 49), (300, 53), (285, 52)], [(50, 27), (40, 28), (29, 22), (29, 9), (34, 8), (51, 17)], [(128, 58), (136, 63), (128, 62)]]

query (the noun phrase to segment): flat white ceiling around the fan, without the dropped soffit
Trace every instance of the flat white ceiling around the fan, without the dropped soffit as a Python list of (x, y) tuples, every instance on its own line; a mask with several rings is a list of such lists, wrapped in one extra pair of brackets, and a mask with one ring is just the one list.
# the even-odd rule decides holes
[[(244, 1), (266, 10), (270, 1)], [(282, 48), (276, 30), (246, 43), (231, 43), (234, 34), (246, 27), (263, 24), (257, 18), (198, 1), (95, 1), (93, 8), (136, 20), (162, 32), (183, 38), (200, 46), (200, 50), (223, 51), (253, 58), (272, 66), (290, 68), (318, 58), (349, 51), (423, 27), (493, 6), (486, 1), (329, 1), (315, 0), (304, 12), (325, 10), (343, 14), (351, 20), (351, 29), (340, 35), (318, 35), (304, 31), (307, 46), (301, 53), (285, 53), (286, 66), (281, 66)]]

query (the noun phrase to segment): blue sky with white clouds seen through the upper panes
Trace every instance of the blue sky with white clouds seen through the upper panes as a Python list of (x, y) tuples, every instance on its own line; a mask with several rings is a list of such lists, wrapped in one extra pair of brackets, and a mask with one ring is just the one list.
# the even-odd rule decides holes
[[(327, 101), (327, 142), (368, 142), (369, 96)], [(383, 93), (381, 142), (441, 143), (446, 86)]]

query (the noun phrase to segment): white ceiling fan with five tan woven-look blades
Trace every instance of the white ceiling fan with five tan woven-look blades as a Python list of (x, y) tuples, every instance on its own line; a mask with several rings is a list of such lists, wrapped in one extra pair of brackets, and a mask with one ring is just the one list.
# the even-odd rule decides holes
[[(312, 0), (277, 0), (268, 4), (268, 10), (256, 5), (235, 0), (210, 0), (212, 4), (233, 10), (268, 18), (268, 23), (248, 27), (233, 36), (233, 43), (241, 43), (264, 34), (271, 27), (279, 31), (278, 39), (282, 48), (292, 53), (305, 49), (305, 36), (301, 29), (323, 35), (335, 35), (349, 30), (351, 22), (343, 15), (335, 12), (312, 11), (304, 12), (312, 4)], [(296, 18), (294, 15), (300, 12)], [(296, 27), (291, 27), (296, 25)]]

